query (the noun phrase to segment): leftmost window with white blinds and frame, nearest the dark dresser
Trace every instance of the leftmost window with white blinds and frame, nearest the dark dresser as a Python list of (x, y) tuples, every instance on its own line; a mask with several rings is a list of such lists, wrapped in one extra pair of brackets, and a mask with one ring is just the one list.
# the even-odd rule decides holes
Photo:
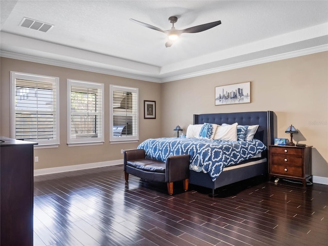
[(59, 78), (11, 72), (11, 137), (59, 145)]

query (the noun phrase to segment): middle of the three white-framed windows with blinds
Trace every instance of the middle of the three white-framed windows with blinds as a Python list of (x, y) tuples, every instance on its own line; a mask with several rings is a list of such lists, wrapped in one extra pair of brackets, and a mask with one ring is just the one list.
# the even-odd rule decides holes
[(104, 84), (67, 80), (68, 145), (104, 142)]

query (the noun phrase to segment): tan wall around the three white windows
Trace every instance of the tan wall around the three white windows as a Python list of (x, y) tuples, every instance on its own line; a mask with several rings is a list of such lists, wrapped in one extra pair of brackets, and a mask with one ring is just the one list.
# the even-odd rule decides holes
[[(135, 148), (142, 140), (159, 137), (161, 130), (161, 94), (158, 83), (136, 79), (80, 71), (56, 66), (49, 66), (28, 61), (1, 57), (1, 128), (2, 136), (10, 137), (10, 71), (25, 72), (59, 77), (60, 96), (60, 145), (59, 148), (36, 149), (34, 155), (39, 161), (34, 169), (64, 167), (85, 163), (119, 160), (123, 156), (121, 149)], [(92, 81), (105, 84), (105, 143), (97, 146), (67, 146), (67, 78)], [(109, 143), (109, 85), (139, 88), (139, 143)], [(156, 119), (144, 119), (144, 100), (156, 101)]]

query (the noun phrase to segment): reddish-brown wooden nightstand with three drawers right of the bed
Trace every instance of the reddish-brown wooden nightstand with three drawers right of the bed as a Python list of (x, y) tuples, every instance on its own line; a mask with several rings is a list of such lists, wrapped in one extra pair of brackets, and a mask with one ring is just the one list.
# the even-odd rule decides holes
[(312, 146), (269, 146), (269, 178), (272, 176), (301, 180), (312, 178)]

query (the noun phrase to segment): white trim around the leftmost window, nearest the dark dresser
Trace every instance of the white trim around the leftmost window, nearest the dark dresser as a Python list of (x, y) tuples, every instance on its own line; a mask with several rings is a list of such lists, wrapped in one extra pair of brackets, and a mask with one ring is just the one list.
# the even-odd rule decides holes
[(59, 145), (59, 78), (52, 76), (44, 76), (38, 74), (20, 73), (20, 72), (10, 72), (10, 136), (11, 138), (16, 138), (16, 109), (15, 109), (15, 93), (16, 93), (16, 79), (27, 79), (40, 82), (54, 83), (56, 85), (56, 134), (55, 139), (52, 140), (33, 140), (37, 142), (38, 145), (34, 146), (35, 149), (41, 148), (58, 148)]

